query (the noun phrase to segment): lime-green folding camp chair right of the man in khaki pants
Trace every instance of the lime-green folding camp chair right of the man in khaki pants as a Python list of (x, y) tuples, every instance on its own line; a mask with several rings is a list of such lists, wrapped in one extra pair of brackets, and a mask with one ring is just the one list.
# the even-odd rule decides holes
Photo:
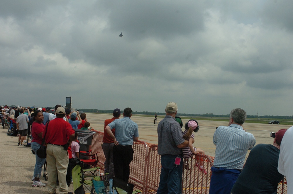
[[(94, 194), (94, 183), (95, 181), (105, 181), (104, 176), (86, 176), (85, 173), (89, 172), (91, 169), (83, 169), (84, 163), (80, 161), (72, 169), (72, 180), (73, 188), (75, 194), (84, 194), (85, 191), (89, 191), (91, 194)], [(105, 181), (106, 182), (106, 181)], [(106, 183), (104, 183), (106, 184)], [(106, 190), (106, 188), (104, 189)]]

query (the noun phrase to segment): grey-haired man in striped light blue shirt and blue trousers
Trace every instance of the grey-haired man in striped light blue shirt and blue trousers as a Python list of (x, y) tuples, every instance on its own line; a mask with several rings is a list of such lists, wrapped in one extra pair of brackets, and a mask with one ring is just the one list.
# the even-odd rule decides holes
[(219, 126), (213, 142), (216, 145), (210, 194), (230, 194), (238, 175), (243, 169), (248, 149), (255, 145), (255, 138), (243, 129), (246, 113), (241, 108), (231, 110), (228, 126)]

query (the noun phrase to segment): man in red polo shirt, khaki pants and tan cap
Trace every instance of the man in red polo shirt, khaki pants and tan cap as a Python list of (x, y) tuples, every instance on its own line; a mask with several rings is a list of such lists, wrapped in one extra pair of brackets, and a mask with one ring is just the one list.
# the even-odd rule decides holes
[[(68, 166), (68, 152), (66, 145), (74, 140), (74, 130), (69, 122), (63, 120), (65, 109), (58, 107), (56, 118), (47, 123), (43, 132), (43, 138), (47, 145), (47, 171), (49, 194), (56, 193), (56, 177), (59, 179), (59, 191), (61, 194), (72, 194), (68, 192), (66, 184), (66, 173)], [(46, 130), (47, 128), (47, 130)]]

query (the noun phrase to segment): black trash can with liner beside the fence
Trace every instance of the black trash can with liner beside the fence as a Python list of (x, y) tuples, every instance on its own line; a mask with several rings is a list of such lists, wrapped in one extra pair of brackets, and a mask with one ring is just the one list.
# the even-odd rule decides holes
[[(77, 132), (77, 140), (79, 141), (79, 151), (89, 151), (91, 149), (93, 135), (95, 131), (74, 129)], [(88, 159), (87, 156), (79, 156), (80, 159)]]

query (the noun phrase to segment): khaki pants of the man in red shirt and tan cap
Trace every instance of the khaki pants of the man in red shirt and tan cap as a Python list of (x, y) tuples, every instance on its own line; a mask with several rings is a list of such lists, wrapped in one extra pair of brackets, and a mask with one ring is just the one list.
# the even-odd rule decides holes
[(62, 146), (48, 144), (47, 146), (47, 172), (49, 193), (56, 193), (57, 175), (59, 179), (59, 191), (61, 194), (68, 193), (66, 173), (68, 166), (68, 152)]

